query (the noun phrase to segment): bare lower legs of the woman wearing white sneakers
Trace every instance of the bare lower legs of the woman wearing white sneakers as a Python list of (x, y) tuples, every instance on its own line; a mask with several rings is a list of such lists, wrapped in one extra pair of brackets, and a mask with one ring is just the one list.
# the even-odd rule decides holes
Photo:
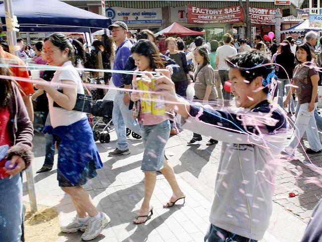
[(61, 187), (61, 189), (72, 198), (79, 217), (86, 217), (86, 213), (91, 217), (99, 214), (91, 196), (82, 186)]

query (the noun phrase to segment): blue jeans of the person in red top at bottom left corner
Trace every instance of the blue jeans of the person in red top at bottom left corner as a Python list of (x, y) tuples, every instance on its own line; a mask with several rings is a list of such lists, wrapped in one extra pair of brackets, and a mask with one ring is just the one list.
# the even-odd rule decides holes
[(0, 180), (0, 241), (20, 242), (22, 182), (20, 174)]

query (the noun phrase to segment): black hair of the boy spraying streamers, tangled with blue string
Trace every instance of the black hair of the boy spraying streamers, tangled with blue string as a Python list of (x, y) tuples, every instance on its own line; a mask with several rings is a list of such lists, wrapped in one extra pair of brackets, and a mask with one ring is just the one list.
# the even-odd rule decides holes
[[(273, 65), (263, 65), (270, 63), (270, 60), (265, 52), (251, 50), (239, 53), (237, 55), (228, 57), (226, 62), (230, 67), (239, 69), (241, 76), (249, 82), (252, 82), (258, 76), (262, 76), (268, 83), (271, 82), (271, 73), (274, 70), (274, 67)], [(254, 68), (257, 65), (262, 66)], [(263, 86), (265, 86), (263, 92), (268, 94), (268, 86), (265, 84), (263, 84)]]

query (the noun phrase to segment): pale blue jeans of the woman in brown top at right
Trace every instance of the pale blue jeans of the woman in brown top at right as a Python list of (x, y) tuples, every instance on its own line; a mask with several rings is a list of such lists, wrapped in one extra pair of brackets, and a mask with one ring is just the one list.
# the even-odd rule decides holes
[[(298, 113), (295, 121), (295, 130), (293, 132), (289, 145), (285, 147), (285, 151), (293, 155), (295, 153), (296, 147), (300, 143), (304, 132), (306, 132), (310, 148), (314, 151), (319, 151), (322, 149), (322, 145), (319, 138), (317, 123), (314, 118), (314, 111), (308, 111), (309, 103), (302, 103), (298, 106), (299, 108), (296, 107)], [(318, 103), (315, 104), (315, 109), (317, 109), (317, 106)]]

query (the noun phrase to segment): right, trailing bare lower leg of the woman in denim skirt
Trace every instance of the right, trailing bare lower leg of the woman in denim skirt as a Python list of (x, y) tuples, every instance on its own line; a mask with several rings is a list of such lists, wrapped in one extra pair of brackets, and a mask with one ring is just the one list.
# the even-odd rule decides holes
[(167, 202), (164, 207), (171, 205), (171, 202), (174, 202), (180, 197), (184, 197), (183, 191), (180, 189), (178, 182), (175, 178), (173, 168), (168, 164), (167, 160), (164, 158), (163, 169), (160, 170), (166, 181), (169, 182), (172, 189), (172, 196), (170, 197), (169, 202)]

